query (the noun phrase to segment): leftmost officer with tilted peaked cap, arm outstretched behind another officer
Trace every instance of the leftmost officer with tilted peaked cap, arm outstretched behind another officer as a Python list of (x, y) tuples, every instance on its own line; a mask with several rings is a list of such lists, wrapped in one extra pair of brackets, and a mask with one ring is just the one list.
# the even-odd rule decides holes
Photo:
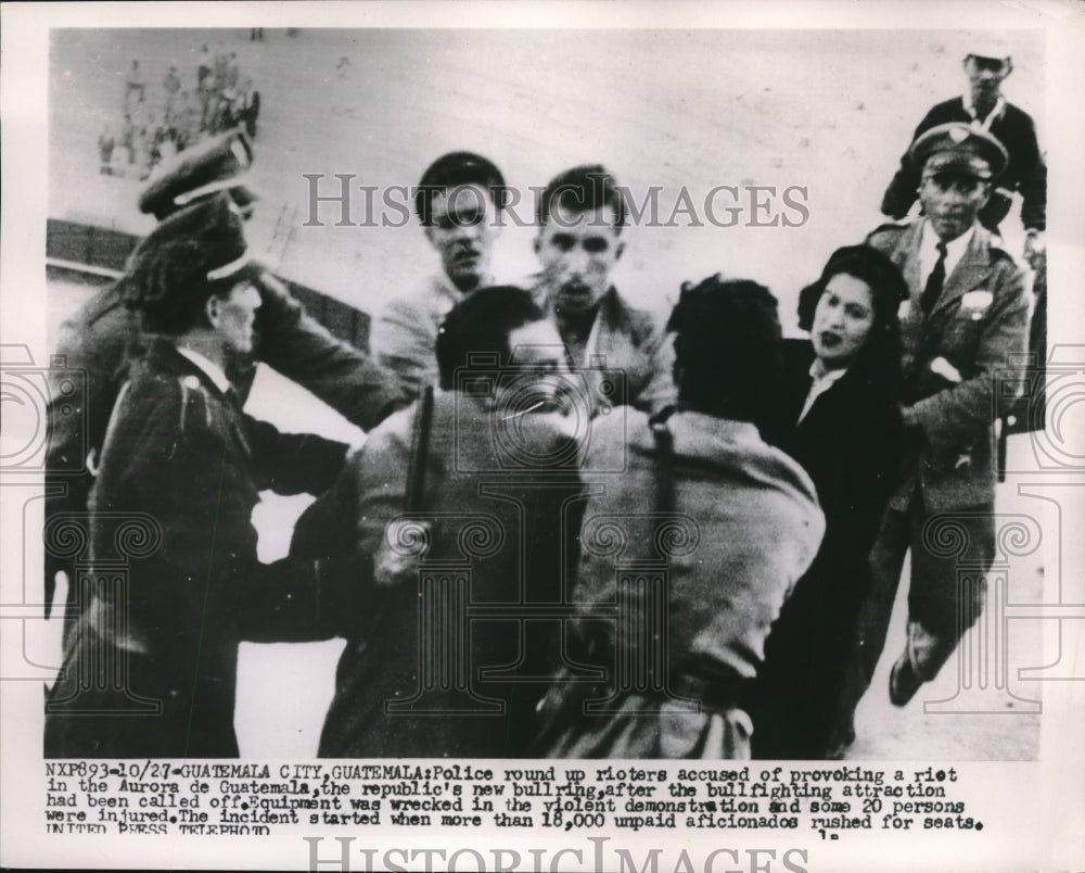
[[(256, 194), (247, 185), (246, 173), (252, 161), (252, 144), (240, 131), (208, 140), (164, 167), (141, 193), (139, 207), (161, 222), (226, 191), (242, 215), (251, 215)], [(69, 582), (73, 579), (71, 566), (50, 554), (50, 522), (61, 514), (86, 511), (110, 413), (126, 379), (128, 362), (145, 345), (137, 316), (124, 305), (127, 281), (127, 276), (122, 277), (97, 293), (61, 327), (56, 352), (65, 358), (67, 370), (86, 374), (86, 395), (84, 403), (72, 404), (59, 384), (51, 384), (51, 396), (56, 400), (49, 407), (46, 460), (47, 480), (54, 486), (46, 504), (47, 604), (52, 602), (59, 571), (66, 571)], [(391, 374), (306, 315), (269, 271), (257, 270), (254, 286), (261, 300), (256, 341), (233, 364), (242, 398), (248, 394), (259, 359), (365, 430), (406, 403)], [(81, 472), (62, 472), (76, 469)], [(69, 606), (72, 596), (69, 587)]]

